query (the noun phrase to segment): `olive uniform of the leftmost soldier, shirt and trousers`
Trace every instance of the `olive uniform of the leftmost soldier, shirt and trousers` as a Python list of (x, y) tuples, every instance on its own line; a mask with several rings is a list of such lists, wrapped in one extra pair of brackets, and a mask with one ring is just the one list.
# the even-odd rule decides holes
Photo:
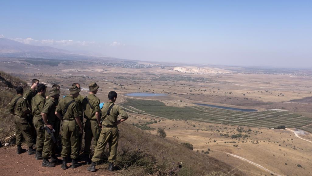
[[(18, 99), (18, 100), (17, 100)], [(15, 104), (14, 103), (17, 100)], [(16, 145), (22, 145), (23, 137), (28, 145), (28, 147), (32, 147), (34, 145), (32, 135), (30, 133), (29, 125), (26, 120), (26, 114), (24, 113), (27, 111), (27, 101), (21, 95), (17, 95), (15, 98), (12, 99), (9, 106), (9, 111), (14, 112), (14, 124), (15, 124), (15, 134), (16, 134)]]

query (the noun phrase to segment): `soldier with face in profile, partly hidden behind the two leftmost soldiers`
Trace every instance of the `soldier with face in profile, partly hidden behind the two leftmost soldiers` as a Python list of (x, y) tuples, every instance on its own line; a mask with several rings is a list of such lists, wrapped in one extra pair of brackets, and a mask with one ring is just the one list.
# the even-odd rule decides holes
[[(32, 85), (31, 85), (30, 89), (28, 89), (24, 94), (24, 98), (26, 98), (26, 101), (27, 101), (27, 104), (28, 104), (30, 110), (32, 110), (32, 98), (34, 98), (35, 95), (37, 94), (36, 88), (39, 84), (39, 80), (33, 79), (31, 84)], [(36, 134), (36, 129), (35, 129), (34, 125), (32, 124), (32, 119), (33, 119), (32, 113), (27, 114), (27, 121), (28, 121), (28, 125), (30, 127), (30, 133), (32, 134), (33, 142), (36, 143), (37, 134)]]

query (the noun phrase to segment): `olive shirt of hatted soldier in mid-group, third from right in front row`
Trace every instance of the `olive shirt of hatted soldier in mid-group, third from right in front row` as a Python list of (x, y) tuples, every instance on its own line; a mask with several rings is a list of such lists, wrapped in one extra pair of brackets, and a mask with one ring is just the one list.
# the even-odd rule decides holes
[[(67, 104), (69, 102), (73, 101), (67, 108), (67, 111), (65, 114), (63, 114), (65, 108), (67, 107)], [(78, 102), (70, 95), (66, 95), (65, 98), (62, 98), (59, 102), (59, 104), (56, 107), (56, 112), (63, 115), (63, 120), (73, 120), (75, 117), (81, 117), (81, 110), (78, 105)]]

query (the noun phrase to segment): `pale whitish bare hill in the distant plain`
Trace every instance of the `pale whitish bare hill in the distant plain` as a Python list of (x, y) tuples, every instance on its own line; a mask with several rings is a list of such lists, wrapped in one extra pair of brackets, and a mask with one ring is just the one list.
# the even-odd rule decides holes
[(199, 68), (199, 67), (174, 67), (174, 71), (192, 74), (231, 74), (232, 71), (219, 68)]

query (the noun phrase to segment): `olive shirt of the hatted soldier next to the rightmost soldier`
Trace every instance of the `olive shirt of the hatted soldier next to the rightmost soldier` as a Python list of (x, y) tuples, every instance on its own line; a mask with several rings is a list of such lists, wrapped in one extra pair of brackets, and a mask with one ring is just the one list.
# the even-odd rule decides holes
[[(88, 98), (93, 109), (89, 105), (86, 98)], [(97, 98), (94, 94), (89, 94), (86, 98), (84, 98), (82, 101), (84, 117), (88, 120), (96, 120), (95, 112), (100, 112), (100, 99)]]

